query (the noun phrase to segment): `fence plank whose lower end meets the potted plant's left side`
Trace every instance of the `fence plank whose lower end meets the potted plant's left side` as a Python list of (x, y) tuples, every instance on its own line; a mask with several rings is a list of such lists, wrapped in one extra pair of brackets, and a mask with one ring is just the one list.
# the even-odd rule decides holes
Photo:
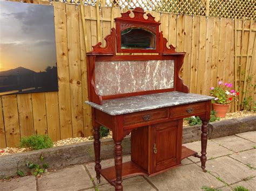
[(219, 53), (219, 34), (220, 34), (220, 19), (214, 18), (214, 34), (212, 45), (212, 64), (211, 64), (211, 87), (216, 87), (217, 84), (217, 66)]

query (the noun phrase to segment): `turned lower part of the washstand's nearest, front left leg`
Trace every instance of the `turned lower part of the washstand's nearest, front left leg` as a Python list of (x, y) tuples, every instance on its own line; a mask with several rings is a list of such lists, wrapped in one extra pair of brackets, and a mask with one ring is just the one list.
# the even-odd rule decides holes
[(114, 166), (116, 168), (116, 183), (115, 183), (115, 188), (116, 191), (122, 191), (123, 190), (123, 185), (122, 185), (122, 164), (123, 164), (123, 159), (122, 159), (122, 145), (121, 142), (114, 142)]

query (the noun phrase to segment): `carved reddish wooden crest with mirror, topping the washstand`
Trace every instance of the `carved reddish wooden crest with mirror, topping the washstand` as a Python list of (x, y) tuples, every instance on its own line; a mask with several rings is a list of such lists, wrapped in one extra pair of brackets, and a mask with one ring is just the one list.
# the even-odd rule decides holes
[(142, 8), (135, 8), (134, 16), (131, 11), (121, 13), (122, 17), (115, 18), (116, 29), (111, 29), (111, 34), (105, 37), (106, 46), (102, 43), (93, 46), (90, 54), (116, 55), (117, 53), (177, 53), (175, 47), (167, 45), (163, 32), (159, 32), (159, 22)]

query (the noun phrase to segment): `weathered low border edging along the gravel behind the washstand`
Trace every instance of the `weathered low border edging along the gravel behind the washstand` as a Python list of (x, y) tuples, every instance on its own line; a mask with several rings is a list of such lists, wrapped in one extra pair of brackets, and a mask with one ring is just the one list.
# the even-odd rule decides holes
[[(256, 116), (228, 119), (220, 122), (210, 123), (208, 138), (231, 136), (242, 132), (256, 131)], [(200, 140), (200, 125), (190, 126), (183, 129), (183, 143), (190, 143)], [(130, 136), (127, 136), (122, 143), (123, 155), (130, 154)], [(113, 158), (113, 140), (103, 139), (101, 145), (101, 157), (103, 160)], [(43, 155), (44, 161), (39, 157)], [(17, 169), (28, 171), (26, 162), (38, 164), (48, 163), (52, 169), (60, 169), (70, 165), (84, 164), (94, 160), (93, 142), (85, 142), (73, 145), (46, 148), (38, 151), (29, 151), (4, 155), (0, 157), (0, 179), (15, 175)]]

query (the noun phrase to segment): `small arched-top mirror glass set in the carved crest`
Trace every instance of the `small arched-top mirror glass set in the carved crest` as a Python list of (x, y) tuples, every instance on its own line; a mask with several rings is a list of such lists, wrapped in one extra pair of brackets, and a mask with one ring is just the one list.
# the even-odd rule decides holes
[(156, 34), (136, 27), (121, 32), (121, 49), (156, 49)]

